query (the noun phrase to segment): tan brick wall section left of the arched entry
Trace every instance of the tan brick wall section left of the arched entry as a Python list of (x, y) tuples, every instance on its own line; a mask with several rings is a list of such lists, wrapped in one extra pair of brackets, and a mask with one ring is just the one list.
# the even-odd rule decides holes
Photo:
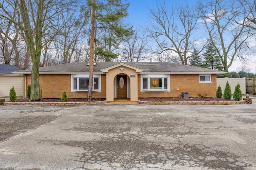
[[(31, 74), (26, 76), (28, 86)], [(87, 92), (71, 92), (71, 74), (40, 74), (39, 83), (42, 98), (61, 98), (63, 90), (67, 92), (68, 98), (87, 98)], [(101, 92), (93, 92), (92, 98), (106, 98), (105, 74), (101, 75)]]

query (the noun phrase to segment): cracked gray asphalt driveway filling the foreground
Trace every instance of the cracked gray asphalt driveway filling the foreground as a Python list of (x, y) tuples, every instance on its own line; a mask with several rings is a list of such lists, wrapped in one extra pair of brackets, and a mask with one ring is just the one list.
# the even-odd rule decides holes
[(0, 106), (0, 169), (255, 170), (256, 104)]

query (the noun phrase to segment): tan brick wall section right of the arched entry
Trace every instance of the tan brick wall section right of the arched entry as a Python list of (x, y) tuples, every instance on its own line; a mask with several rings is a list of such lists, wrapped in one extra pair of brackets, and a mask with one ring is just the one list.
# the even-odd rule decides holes
[[(212, 74), (211, 84), (199, 83), (199, 74), (170, 74), (170, 92), (140, 90), (140, 74), (138, 75), (138, 98), (178, 97), (182, 92), (188, 92), (189, 97), (207, 94), (216, 97), (216, 74)], [(179, 90), (177, 90), (177, 88)]]

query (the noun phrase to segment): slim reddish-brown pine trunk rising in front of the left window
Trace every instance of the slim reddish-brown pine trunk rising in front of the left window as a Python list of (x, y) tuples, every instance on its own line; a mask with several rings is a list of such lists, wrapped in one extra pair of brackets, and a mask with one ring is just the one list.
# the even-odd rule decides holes
[[(93, 0), (96, 4), (96, 0)], [(88, 96), (87, 100), (92, 100), (92, 86), (93, 86), (93, 58), (94, 58), (94, 36), (95, 36), (95, 5), (92, 5), (92, 30), (90, 37), (90, 59), (89, 59), (89, 86), (88, 86)]]

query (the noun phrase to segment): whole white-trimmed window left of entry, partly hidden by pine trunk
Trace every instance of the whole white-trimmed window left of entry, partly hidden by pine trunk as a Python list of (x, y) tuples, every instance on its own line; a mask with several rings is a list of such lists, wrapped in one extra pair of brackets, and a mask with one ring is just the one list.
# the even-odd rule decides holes
[[(100, 74), (93, 75), (92, 91), (100, 91)], [(71, 74), (71, 91), (88, 91), (89, 74)]]

